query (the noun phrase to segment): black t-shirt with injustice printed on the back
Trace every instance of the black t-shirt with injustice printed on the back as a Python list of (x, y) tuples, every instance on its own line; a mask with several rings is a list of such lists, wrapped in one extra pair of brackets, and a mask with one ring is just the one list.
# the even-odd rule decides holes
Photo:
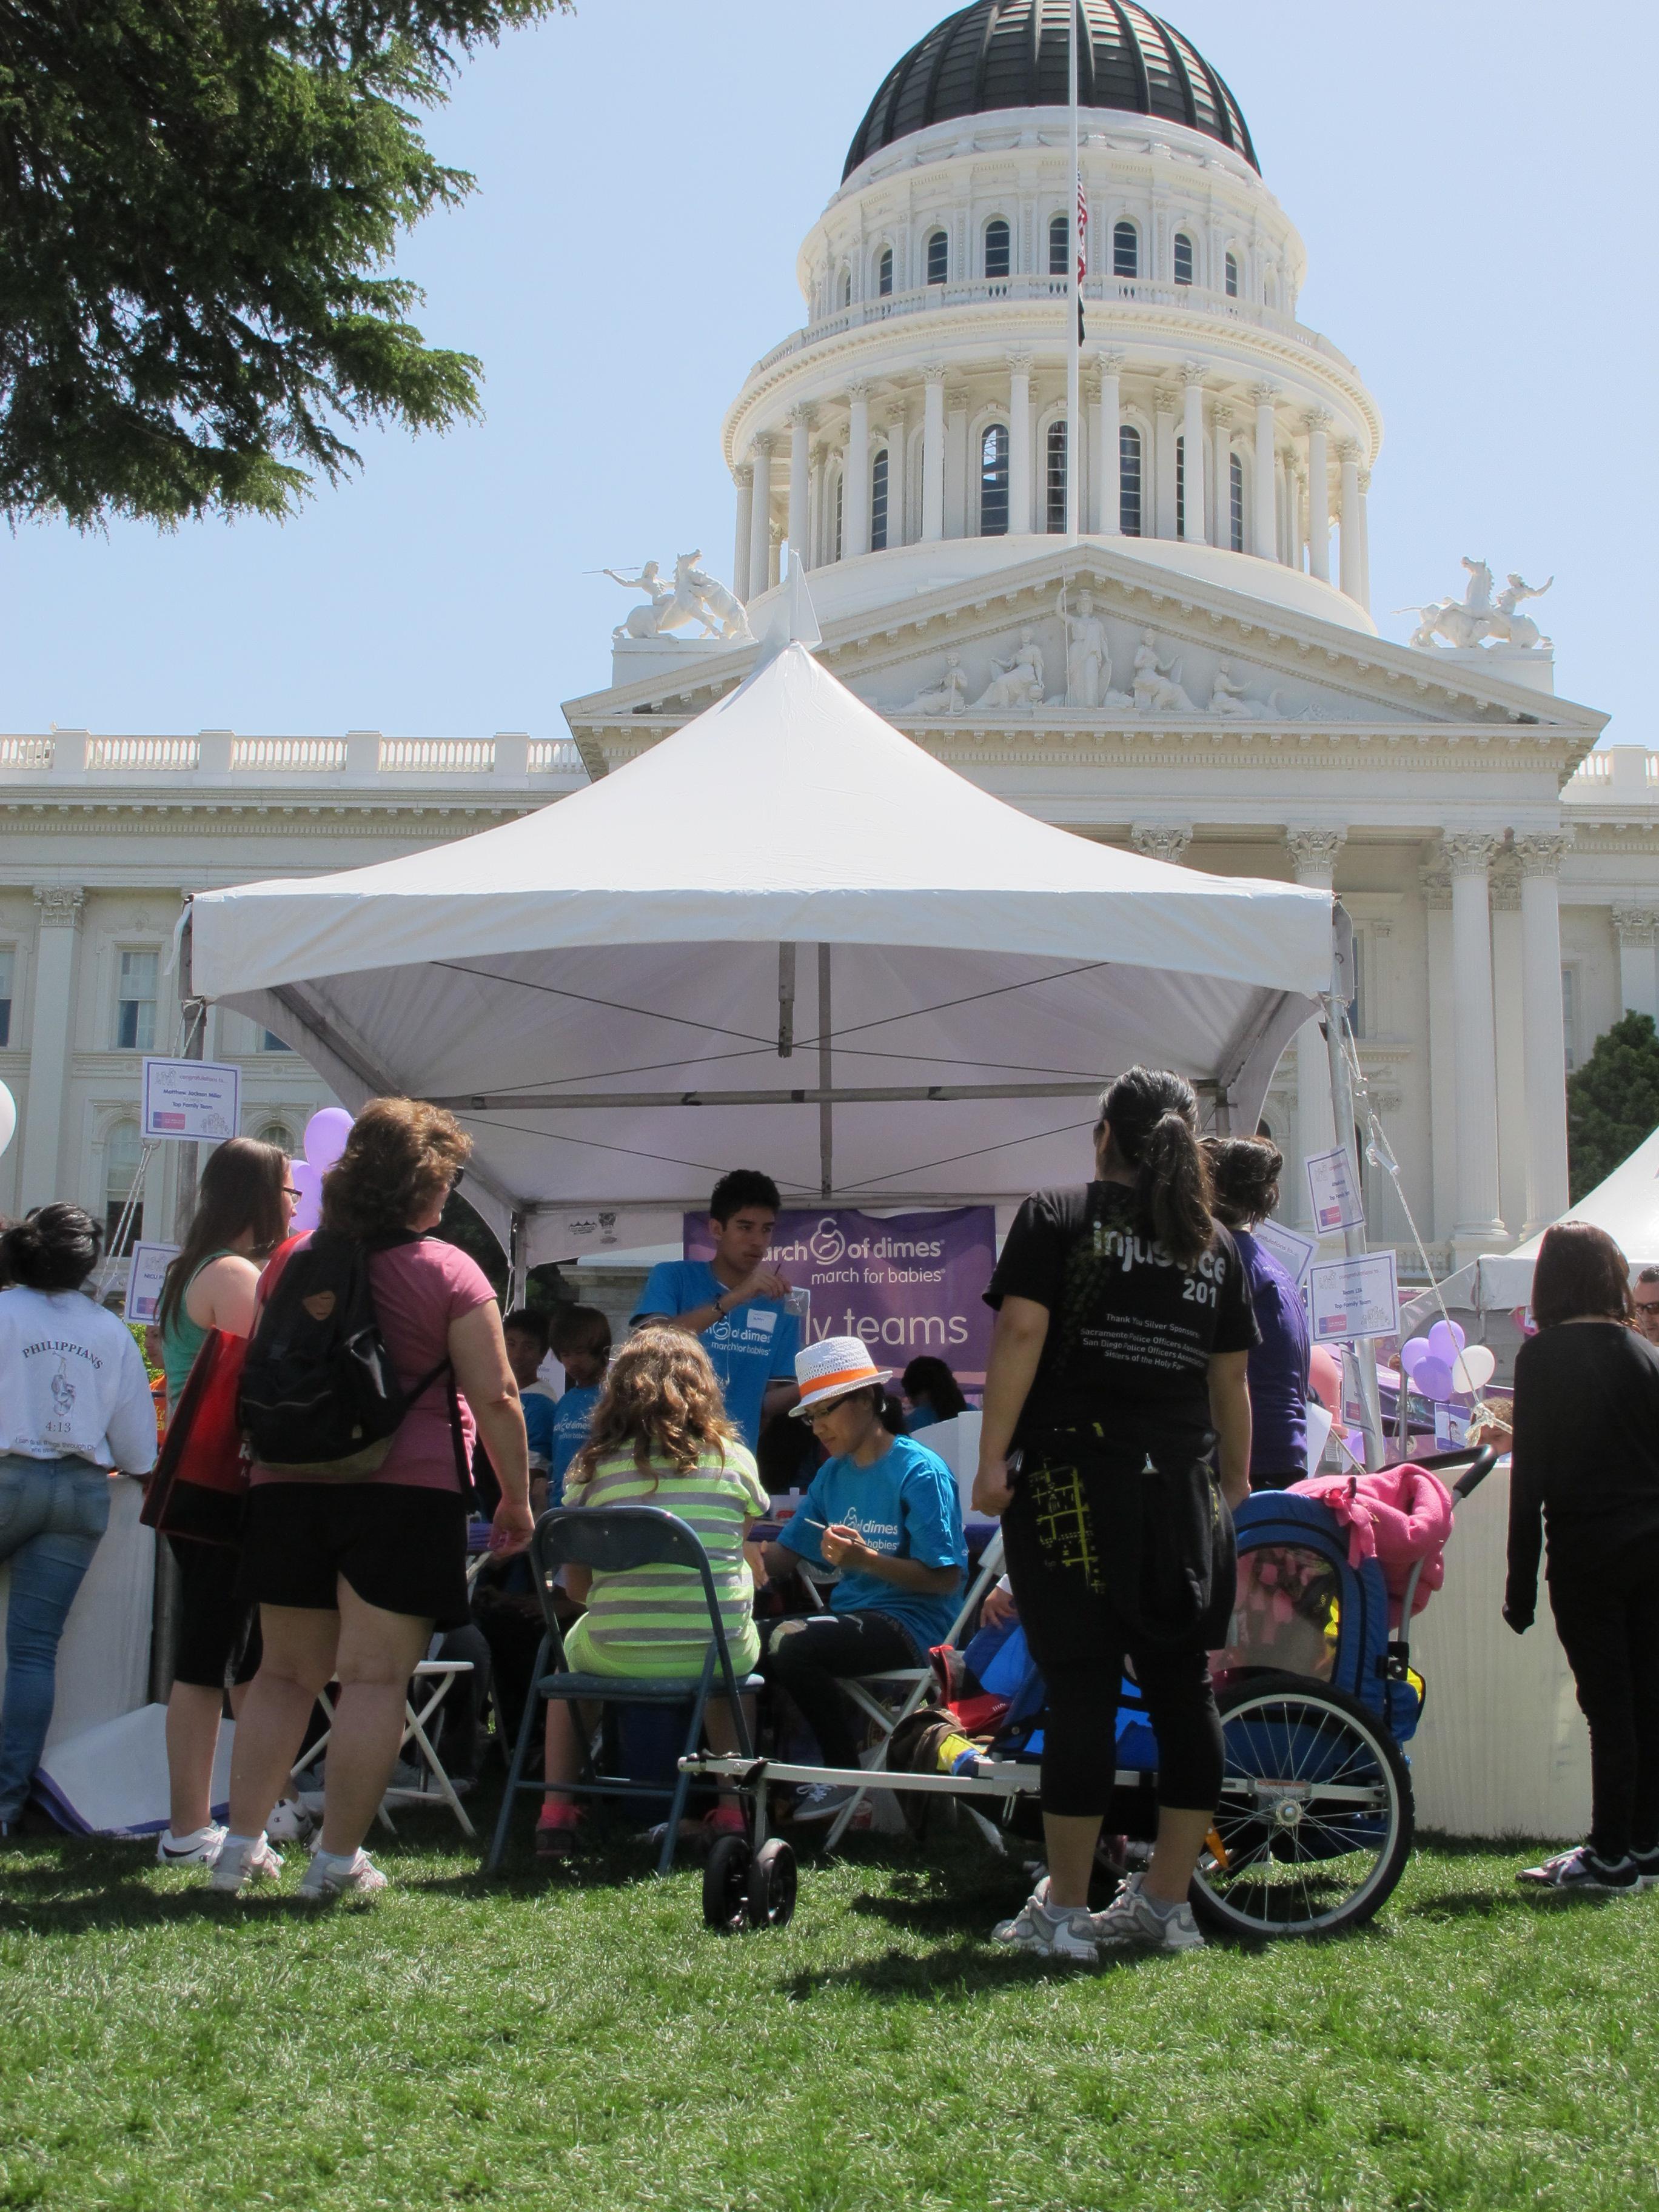
[(1239, 1250), (1217, 1223), (1190, 1267), (1144, 1234), (1124, 1183), (1037, 1190), (1015, 1214), (987, 1305), (1048, 1307), (1037, 1378), (1015, 1444), (1104, 1422), (1106, 1440), (1210, 1444), (1208, 1363), (1261, 1340)]

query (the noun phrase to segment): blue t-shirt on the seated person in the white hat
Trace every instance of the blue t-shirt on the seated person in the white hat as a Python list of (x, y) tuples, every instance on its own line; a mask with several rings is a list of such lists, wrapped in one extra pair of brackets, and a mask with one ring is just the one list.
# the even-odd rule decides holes
[(807, 1495), (779, 1531), (779, 1544), (803, 1559), (823, 1562), (823, 1531), (841, 1524), (856, 1528), (872, 1551), (887, 1559), (920, 1559), (922, 1566), (953, 1566), (949, 1590), (900, 1590), (880, 1575), (843, 1573), (830, 1590), (832, 1613), (885, 1613), (927, 1652), (951, 1632), (962, 1606), (967, 1544), (962, 1542), (962, 1500), (956, 1475), (927, 1444), (896, 1436), (872, 1464), (825, 1460), (812, 1478)]

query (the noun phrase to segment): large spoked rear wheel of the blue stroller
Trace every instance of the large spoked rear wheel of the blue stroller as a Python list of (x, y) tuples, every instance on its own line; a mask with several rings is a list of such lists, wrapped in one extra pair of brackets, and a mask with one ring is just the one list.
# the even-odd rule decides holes
[(1225, 1765), (1192, 1911), (1230, 1936), (1327, 1936), (1394, 1893), (1411, 1851), (1411, 1778), (1376, 1714), (1303, 1674), (1219, 1699)]

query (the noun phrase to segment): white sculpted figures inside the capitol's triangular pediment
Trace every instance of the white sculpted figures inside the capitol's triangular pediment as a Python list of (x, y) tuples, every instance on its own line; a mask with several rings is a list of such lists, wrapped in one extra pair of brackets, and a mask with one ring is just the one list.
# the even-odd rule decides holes
[(1243, 679), (1217, 664), (1210, 697), (1199, 706), (1181, 684), (1181, 661), (1164, 659), (1157, 633), (1141, 630), (1135, 646), (1128, 690), (1113, 690), (1113, 653), (1106, 624), (1095, 613), (1091, 593), (1079, 593), (1075, 606), (1060, 602), (1060, 624), (1066, 633), (1066, 688), (1048, 695), (1048, 668), (1031, 624), (1020, 630), (1020, 644), (1006, 655), (991, 655), (995, 670), (978, 699), (969, 699), (962, 655), (945, 655), (945, 675), (925, 692), (894, 708), (898, 714), (1031, 714), (1042, 706), (1126, 708), (1137, 714), (1225, 714), (1232, 721), (1283, 721), (1287, 708), (1279, 692), (1267, 701), (1248, 699)]

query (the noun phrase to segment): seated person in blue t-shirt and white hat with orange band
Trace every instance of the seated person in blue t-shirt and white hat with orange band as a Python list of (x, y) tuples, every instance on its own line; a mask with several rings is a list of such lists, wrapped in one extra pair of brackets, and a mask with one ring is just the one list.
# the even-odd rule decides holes
[[(838, 1681), (927, 1666), (962, 1604), (967, 1544), (956, 1475), (938, 1453), (894, 1436), (880, 1418), (891, 1369), (858, 1336), (827, 1336), (796, 1356), (799, 1416), (830, 1453), (779, 1540), (768, 1579), (801, 1559), (841, 1571), (830, 1613), (770, 1621), (761, 1670), (790, 1692), (827, 1767), (856, 1767), (858, 1743)], [(834, 1820), (849, 1798), (816, 1783), (796, 1820)]]

